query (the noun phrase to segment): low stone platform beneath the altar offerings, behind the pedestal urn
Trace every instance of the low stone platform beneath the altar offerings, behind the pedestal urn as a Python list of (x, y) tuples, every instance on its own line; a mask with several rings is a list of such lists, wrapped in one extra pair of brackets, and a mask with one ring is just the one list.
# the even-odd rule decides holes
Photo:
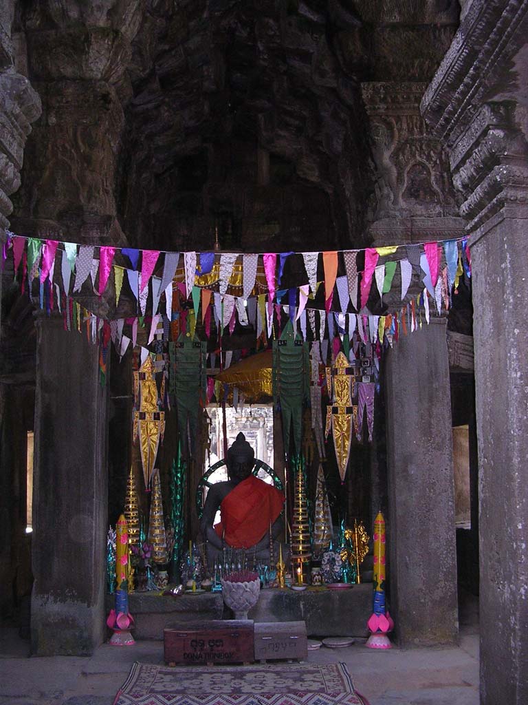
[[(108, 611), (113, 596), (107, 596)], [(136, 639), (163, 639), (165, 627), (197, 620), (232, 619), (221, 593), (204, 592), (177, 597), (158, 592), (133, 592), (129, 595)], [(353, 585), (344, 590), (308, 588), (260, 590), (258, 603), (249, 611), (255, 622), (306, 622), (310, 637), (365, 637), (366, 622), (372, 612), (372, 583)]]

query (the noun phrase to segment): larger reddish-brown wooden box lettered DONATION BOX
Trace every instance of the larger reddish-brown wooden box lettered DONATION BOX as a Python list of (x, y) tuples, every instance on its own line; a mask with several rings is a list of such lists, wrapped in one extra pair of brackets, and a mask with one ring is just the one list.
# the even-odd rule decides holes
[(253, 661), (251, 620), (209, 620), (163, 630), (165, 663)]

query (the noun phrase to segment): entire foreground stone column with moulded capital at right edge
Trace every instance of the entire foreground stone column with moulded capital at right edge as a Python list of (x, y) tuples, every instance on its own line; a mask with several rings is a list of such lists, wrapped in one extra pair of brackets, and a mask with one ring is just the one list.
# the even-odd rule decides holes
[(528, 2), (473, 0), (422, 102), (472, 257), (482, 705), (528, 702)]

